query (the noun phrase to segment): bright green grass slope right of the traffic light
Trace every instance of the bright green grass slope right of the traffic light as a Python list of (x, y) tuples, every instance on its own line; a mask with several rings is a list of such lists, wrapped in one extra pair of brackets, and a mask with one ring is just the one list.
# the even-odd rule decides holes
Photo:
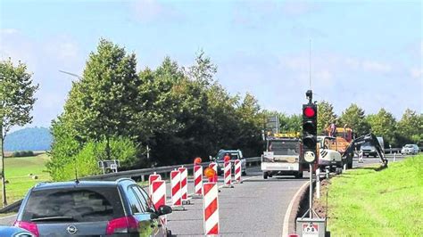
[(328, 231), (332, 236), (423, 236), (423, 155), (375, 169), (348, 170), (331, 179)]

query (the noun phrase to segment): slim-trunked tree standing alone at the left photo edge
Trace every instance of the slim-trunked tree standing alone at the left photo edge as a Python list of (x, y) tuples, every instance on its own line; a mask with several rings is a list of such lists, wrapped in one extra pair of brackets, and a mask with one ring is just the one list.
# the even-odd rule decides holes
[(13, 126), (23, 126), (32, 121), (30, 111), (36, 98), (34, 94), (38, 85), (33, 85), (31, 74), (27, 72), (27, 66), (18, 62), (13, 65), (12, 61), (0, 62), (0, 150), (2, 160), (2, 184), (3, 206), (7, 205), (6, 189), (4, 184), (4, 138)]

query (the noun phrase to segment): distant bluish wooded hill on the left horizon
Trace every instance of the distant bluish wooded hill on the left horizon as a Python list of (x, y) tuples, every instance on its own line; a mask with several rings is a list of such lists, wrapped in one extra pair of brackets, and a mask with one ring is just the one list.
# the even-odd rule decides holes
[(50, 150), (53, 137), (46, 127), (29, 127), (6, 135), (4, 151)]

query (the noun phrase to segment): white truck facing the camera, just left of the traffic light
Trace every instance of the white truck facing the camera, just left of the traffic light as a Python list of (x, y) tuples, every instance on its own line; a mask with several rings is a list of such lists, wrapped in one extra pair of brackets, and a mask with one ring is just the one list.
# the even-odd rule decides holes
[(266, 138), (266, 151), (261, 155), (263, 178), (272, 176), (303, 177), (300, 164), (303, 143), (294, 135), (275, 135)]

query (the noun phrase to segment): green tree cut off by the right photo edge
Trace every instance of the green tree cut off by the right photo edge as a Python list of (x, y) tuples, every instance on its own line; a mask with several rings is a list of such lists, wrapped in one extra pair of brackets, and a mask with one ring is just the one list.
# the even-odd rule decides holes
[(412, 143), (419, 143), (423, 139), (422, 118), (422, 115), (414, 110), (405, 110), (402, 119), (398, 122), (398, 134)]

